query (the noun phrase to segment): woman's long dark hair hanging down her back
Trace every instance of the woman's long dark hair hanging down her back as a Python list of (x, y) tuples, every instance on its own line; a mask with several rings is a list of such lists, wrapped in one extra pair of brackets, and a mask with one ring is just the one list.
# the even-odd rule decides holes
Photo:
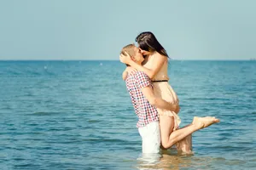
[(138, 43), (139, 48), (150, 52), (157, 51), (159, 54), (162, 54), (169, 58), (168, 54), (166, 53), (166, 49), (161, 46), (160, 42), (157, 41), (156, 37), (154, 37), (154, 34), (152, 32), (144, 31), (140, 33), (135, 38), (135, 41)]

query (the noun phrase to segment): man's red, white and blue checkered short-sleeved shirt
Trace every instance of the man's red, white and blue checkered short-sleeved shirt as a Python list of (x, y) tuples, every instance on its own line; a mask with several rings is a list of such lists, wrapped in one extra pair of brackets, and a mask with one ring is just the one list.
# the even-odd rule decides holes
[(131, 96), (134, 111), (137, 114), (137, 127), (144, 127), (150, 122), (159, 121), (158, 112), (148, 99), (143, 95), (142, 88), (153, 88), (150, 78), (142, 71), (137, 71), (133, 75), (128, 75), (125, 80), (126, 88)]

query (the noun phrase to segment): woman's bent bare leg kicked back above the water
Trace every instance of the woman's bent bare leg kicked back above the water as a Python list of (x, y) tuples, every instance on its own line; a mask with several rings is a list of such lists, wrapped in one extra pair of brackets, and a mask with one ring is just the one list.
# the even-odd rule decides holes
[(165, 149), (168, 149), (189, 134), (216, 122), (219, 122), (219, 120), (215, 117), (197, 117), (192, 124), (172, 132), (174, 118), (172, 116), (160, 116), (161, 144)]

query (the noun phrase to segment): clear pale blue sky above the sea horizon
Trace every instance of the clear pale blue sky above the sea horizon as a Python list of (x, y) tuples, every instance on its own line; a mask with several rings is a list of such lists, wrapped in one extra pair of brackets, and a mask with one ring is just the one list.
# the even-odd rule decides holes
[(254, 0), (0, 0), (0, 59), (119, 59), (152, 31), (172, 59), (256, 59)]

